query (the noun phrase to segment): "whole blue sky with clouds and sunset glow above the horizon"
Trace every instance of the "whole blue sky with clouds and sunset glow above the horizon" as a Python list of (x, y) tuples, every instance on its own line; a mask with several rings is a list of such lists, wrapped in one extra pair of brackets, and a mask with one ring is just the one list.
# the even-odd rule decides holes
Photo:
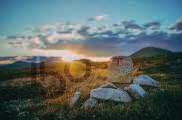
[(181, 0), (0, 0), (0, 56), (182, 51)]

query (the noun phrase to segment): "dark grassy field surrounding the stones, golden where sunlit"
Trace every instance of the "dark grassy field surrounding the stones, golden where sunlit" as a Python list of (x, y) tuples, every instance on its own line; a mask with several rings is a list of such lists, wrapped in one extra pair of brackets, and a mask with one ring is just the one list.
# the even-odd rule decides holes
[[(133, 58), (133, 77), (150, 75), (159, 80), (159, 88), (149, 89), (149, 94), (131, 103), (99, 101), (95, 107), (83, 108), (91, 89), (107, 82), (106, 63), (92, 62), (92, 72), (87, 80), (72, 82), (65, 75), (61, 63), (47, 63), (45, 71), (59, 72), (46, 75), (44, 81), (33, 81), (30, 68), (7, 67), (1, 69), (0, 118), (3, 120), (178, 120), (182, 109), (182, 55)], [(74, 62), (71, 74), (81, 77), (84, 64)], [(8, 71), (8, 72), (7, 72)], [(39, 79), (40, 76), (38, 76)], [(148, 89), (148, 88), (145, 88)], [(68, 101), (75, 91), (81, 99), (74, 107)]]

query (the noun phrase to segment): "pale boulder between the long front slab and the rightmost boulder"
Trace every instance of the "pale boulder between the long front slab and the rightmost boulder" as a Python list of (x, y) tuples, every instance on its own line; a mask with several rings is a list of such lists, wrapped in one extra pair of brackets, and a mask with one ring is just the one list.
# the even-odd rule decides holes
[(130, 84), (125, 88), (125, 90), (127, 90), (136, 99), (144, 97), (146, 94), (145, 90), (138, 84)]

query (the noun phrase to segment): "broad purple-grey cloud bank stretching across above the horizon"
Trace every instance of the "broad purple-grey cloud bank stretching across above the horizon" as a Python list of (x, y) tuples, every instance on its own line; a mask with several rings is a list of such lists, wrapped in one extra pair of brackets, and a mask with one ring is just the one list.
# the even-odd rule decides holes
[(138, 24), (134, 20), (93, 24), (109, 15), (98, 15), (88, 24), (56, 23), (30, 27), (29, 35), (1, 36), (11, 47), (41, 50), (70, 50), (89, 57), (131, 54), (147, 46), (181, 51), (182, 19), (169, 26), (160, 21)]

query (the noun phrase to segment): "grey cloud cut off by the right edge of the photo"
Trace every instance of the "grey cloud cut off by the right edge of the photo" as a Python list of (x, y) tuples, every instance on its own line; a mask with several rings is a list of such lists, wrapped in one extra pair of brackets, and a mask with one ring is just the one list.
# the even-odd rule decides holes
[(182, 18), (178, 19), (175, 24), (168, 27), (170, 30), (182, 31)]

